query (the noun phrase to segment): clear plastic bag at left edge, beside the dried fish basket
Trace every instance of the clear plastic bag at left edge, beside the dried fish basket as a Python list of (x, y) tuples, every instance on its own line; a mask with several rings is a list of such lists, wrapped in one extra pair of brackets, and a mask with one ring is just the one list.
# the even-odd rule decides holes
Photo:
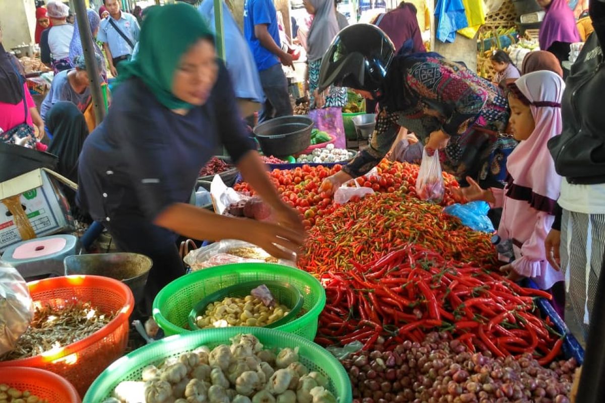
[(0, 355), (15, 349), (33, 317), (27, 283), (17, 269), (0, 261)]

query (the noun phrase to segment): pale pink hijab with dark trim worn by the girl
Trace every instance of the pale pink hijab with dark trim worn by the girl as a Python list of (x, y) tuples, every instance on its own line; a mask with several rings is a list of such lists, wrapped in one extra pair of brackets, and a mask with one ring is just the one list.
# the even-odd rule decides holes
[(565, 83), (552, 71), (535, 71), (517, 79), (509, 88), (529, 101), (535, 129), (528, 140), (522, 141), (508, 156), (506, 195), (552, 214), (559, 197), (561, 176), (555, 172), (546, 143), (563, 129), (561, 96)]

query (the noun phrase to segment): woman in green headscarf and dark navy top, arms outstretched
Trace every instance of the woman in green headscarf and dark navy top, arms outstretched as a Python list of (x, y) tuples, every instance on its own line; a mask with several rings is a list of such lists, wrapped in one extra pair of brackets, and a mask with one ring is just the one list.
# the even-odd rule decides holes
[[(187, 204), (199, 170), (223, 146), (278, 224)], [(184, 3), (149, 10), (139, 55), (120, 65), (109, 113), (84, 143), (79, 182), (78, 204), (117, 247), (153, 260), (147, 313), (155, 294), (185, 273), (178, 234), (241, 239), (281, 258), (292, 257), (304, 237), (298, 214), (281, 201), (247, 137), (211, 33)]]

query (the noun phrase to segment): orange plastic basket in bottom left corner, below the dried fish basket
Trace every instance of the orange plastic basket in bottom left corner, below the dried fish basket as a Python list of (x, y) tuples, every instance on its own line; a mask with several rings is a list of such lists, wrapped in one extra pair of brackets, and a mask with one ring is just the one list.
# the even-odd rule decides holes
[(0, 384), (46, 399), (48, 403), (80, 403), (76, 388), (59, 375), (43, 369), (25, 367), (0, 368)]

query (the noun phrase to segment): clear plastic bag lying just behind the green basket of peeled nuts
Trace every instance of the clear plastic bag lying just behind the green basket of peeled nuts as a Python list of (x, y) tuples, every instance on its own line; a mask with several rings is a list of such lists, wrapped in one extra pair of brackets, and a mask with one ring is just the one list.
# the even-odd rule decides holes
[[(255, 257), (241, 257), (230, 254), (229, 251), (235, 251), (242, 248), (253, 249)], [(235, 252), (234, 252), (235, 253)], [(276, 260), (272, 258), (261, 248), (252, 243), (243, 240), (224, 239), (220, 242), (211, 243), (206, 247), (193, 250), (183, 259), (191, 267), (192, 271), (197, 271), (209, 267), (229, 265), (232, 263), (278, 263), (280, 265), (296, 267), (296, 263), (291, 260)]]

